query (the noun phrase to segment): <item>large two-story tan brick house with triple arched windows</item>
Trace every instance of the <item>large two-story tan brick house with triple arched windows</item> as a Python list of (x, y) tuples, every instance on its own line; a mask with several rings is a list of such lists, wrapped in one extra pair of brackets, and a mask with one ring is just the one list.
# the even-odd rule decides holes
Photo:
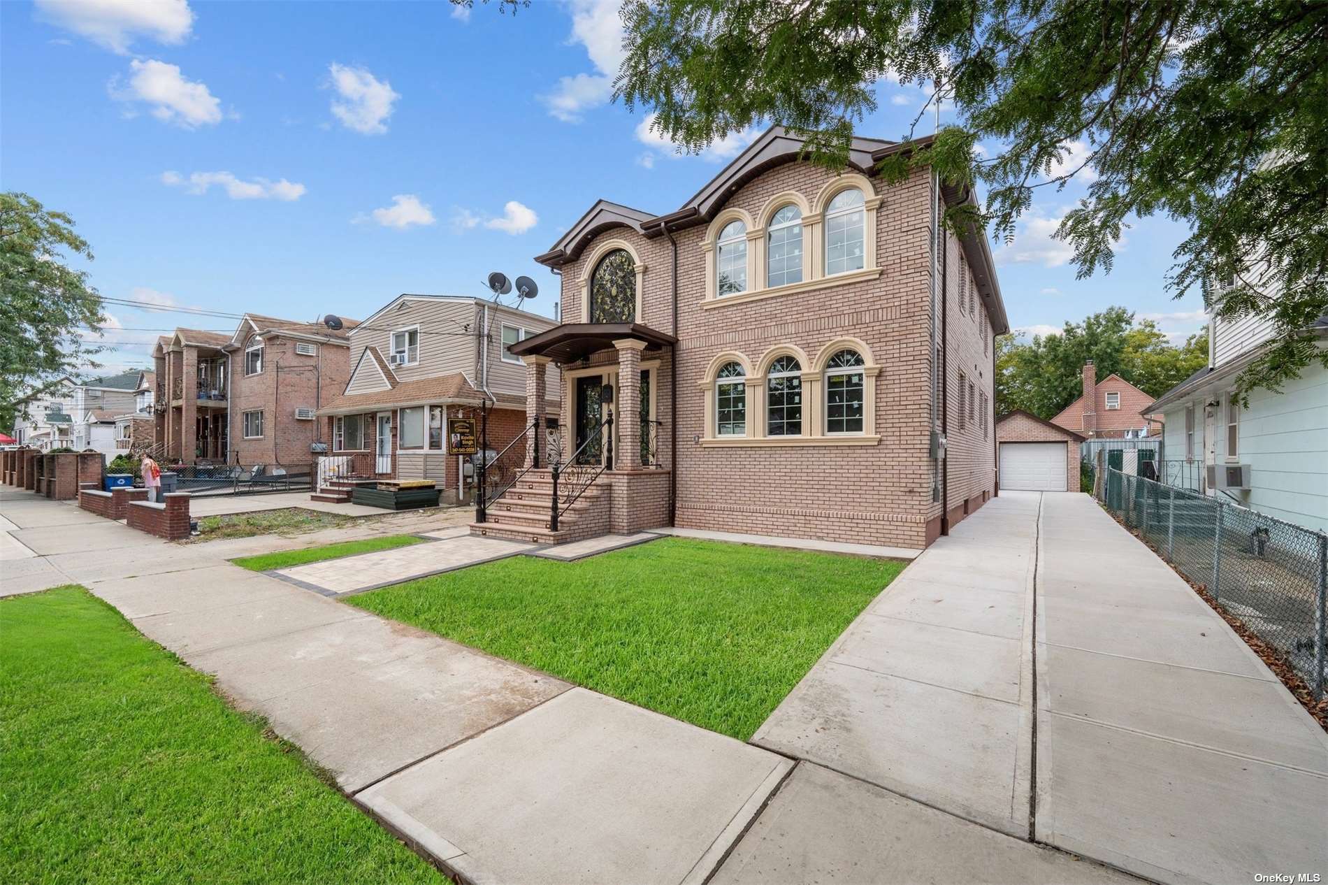
[[(773, 128), (681, 209), (596, 202), (538, 262), (563, 324), (511, 348), (530, 413), (566, 389), (548, 453), (473, 530), (563, 541), (677, 525), (924, 547), (995, 493), (993, 336), (1008, 330), (972, 195), (854, 138), (838, 174)], [(619, 404), (627, 420), (614, 417)], [(579, 508), (579, 510), (578, 510)], [(583, 529), (591, 524), (595, 528)]]

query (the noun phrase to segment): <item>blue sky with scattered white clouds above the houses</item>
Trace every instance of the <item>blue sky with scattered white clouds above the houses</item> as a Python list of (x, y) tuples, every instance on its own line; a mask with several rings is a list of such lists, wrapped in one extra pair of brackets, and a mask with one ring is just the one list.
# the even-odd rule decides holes
[[(620, 60), (612, 0), (477, 3), (0, 3), (0, 186), (69, 213), (102, 295), (291, 319), (364, 318), (394, 295), (482, 295), (607, 198), (669, 211), (745, 144), (677, 157), (643, 112), (607, 101)], [(920, 93), (880, 85), (862, 133), (898, 138)], [(1013, 326), (1109, 304), (1202, 323), (1163, 291), (1183, 227), (1145, 219), (1110, 275), (1076, 280), (1049, 239), (1082, 193), (1040, 194), (997, 248)], [(112, 307), (100, 359), (146, 361), (150, 330), (234, 328)]]

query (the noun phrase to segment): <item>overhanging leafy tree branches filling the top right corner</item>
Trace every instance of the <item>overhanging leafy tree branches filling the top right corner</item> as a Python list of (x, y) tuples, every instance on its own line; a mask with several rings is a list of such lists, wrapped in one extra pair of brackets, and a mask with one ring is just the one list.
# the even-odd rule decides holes
[(777, 122), (842, 167), (878, 81), (920, 84), (954, 124), (883, 171), (981, 185), (980, 217), (950, 225), (1012, 237), (1037, 189), (1092, 169), (1057, 231), (1080, 276), (1112, 268), (1130, 219), (1169, 215), (1190, 229), (1169, 290), (1275, 327), (1242, 391), (1328, 367), (1308, 331), (1328, 310), (1328, 3), (627, 0), (623, 21), (618, 96), (684, 149)]

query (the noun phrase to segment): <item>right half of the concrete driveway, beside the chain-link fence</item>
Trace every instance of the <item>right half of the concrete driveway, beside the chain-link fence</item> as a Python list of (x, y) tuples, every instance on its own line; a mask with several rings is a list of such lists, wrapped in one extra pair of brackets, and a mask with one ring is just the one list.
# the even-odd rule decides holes
[(1328, 878), (1323, 728), (1092, 497), (1040, 525), (1037, 838), (1167, 882)]

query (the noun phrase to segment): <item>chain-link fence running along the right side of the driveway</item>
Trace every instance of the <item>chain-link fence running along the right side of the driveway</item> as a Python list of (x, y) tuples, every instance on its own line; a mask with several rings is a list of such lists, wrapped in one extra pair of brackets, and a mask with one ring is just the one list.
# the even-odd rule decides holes
[(1204, 585), (1323, 698), (1328, 536), (1110, 468), (1096, 488), (1110, 513)]

